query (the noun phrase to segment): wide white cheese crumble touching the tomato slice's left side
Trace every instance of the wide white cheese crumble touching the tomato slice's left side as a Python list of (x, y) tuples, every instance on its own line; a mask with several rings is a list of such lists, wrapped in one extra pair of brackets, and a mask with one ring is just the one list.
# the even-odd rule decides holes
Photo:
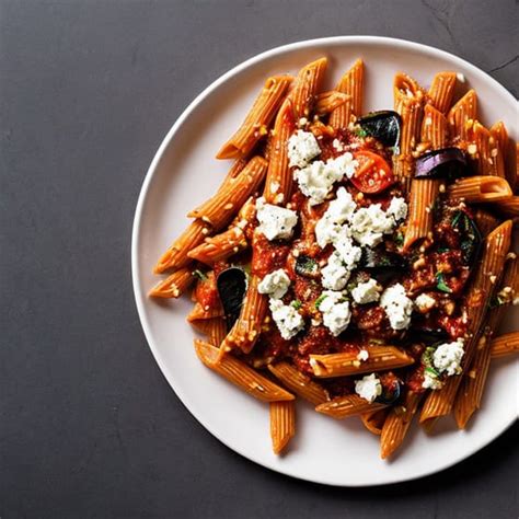
[(293, 178), (298, 182), (301, 193), (310, 198), (310, 205), (322, 204), (335, 182), (345, 175), (349, 178), (354, 175), (358, 162), (349, 152), (328, 159), (326, 162), (314, 161), (311, 164), (296, 170)]

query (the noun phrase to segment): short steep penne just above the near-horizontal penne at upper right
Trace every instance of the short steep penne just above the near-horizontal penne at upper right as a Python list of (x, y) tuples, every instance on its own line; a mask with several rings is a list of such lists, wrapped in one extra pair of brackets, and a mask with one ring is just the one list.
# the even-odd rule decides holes
[(504, 177), (503, 152), (488, 129), (478, 120), (468, 122), (466, 128), (466, 139), (470, 142), (466, 151), (475, 164), (476, 174)]

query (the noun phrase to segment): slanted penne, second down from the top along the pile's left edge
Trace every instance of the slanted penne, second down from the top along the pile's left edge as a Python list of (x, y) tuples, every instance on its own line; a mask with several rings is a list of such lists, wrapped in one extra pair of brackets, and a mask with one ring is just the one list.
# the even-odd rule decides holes
[(258, 189), (267, 172), (267, 161), (253, 157), (234, 178), (232, 185), (220, 189), (212, 198), (192, 210), (187, 216), (209, 223), (215, 231), (232, 220), (245, 200)]

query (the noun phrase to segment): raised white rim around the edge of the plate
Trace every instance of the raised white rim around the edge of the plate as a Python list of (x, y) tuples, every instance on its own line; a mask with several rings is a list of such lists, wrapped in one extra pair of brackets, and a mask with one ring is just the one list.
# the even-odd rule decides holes
[(508, 97), (512, 102), (517, 102), (516, 97), (509, 92), (503, 84), (500, 84), (496, 79), (494, 79), (492, 76), (489, 76), (487, 72), (484, 70), (480, 69), (475, 65), (471, 64), (470, 61), (460, 58), (459, 56), (449, 53), (447, 50), (439, 49), (437, 47), (432, 47), (430, 45), (425, 45), (422, 43), (408, 41), (408, 39), (402, 39), (402, 38), (393, 38), (393, 37), (388, 37), (388, 36), (370, 36), (370, 35), (354, 35), (354, 36), (330, 36), (330, 37), (322, 37), (322, 38), (312, 38), (312, 39), (302, 39), (285, 45), (280, 45), (277, 47), (272, 47), (267, 50), (264, 50), (260, 54), (256, 54), (252, 56), (251, 58), (238, 64), (237, 66), (232, 67), (230, 70), (218, 77), (215, 81), (212, 81), (208, 86), (206, 86), (198, 95), (195, 96), (195, 99), (186, 106), (186, 108), (181, 113), (181, 115), (176, 118), (176, 120), (173, 123), (166, 135), (164, 136), (162, 142), (160, 143), (158, 150), (155, 151), (153, 159), (146, 172), (145, 178), (141, 184), (141, 188), (139, 192), (139, 197), (137, 200), (137, 206), (135, 209), (135, 216), (134, 216), (134, 221), (132, 221), (132, 228), (131, 228), (131, 251), (130, 251), (130, 256), (131, 256), (131, 281), (132, 281), (132, 288), (134, 288), (134, 298), (137, 307), (137, 313), (139, 316), (140, 325), (142, 327), (142, 331), (145, 333), (146, 341), (148, 343), (148, 347), (151, 350), (151, 354), (159, 366), (160, 371), (162, 372), (162, 376), (165, 378), (168, 383), (170, 384), (171, 389), (173, 392), (176, 394), (181, 403), (184, 405), (184, 407), (189, 412), (189, 414), (208, 431), (210, 432), (217, 440), (219, 440), (221, 443), (223, 443), (227, 448), (231, 449), (232, 451), (237, 452), (238, 454), (242, 455), (243, 458), (257, 463), (261, 466), (264, 466), (265, 469), (268, 469), (270, 471), (277, 472), (279, 474), (284, 474), (297, 480), (301, 481), (308, 481), (311, 483), (318, 483), (318, 484), (324, 484), (328, 486), (336, 486), (336, 487), (374, 487), (374, 486), (385, 486), (385, 485), (392, 485), (392, 484), (397, 484), (397, 483), (403, 483), (406, 481), (416, 481), (426, 476), (429, 476), (431, 474), (437, 474), (440, 473), (445, 470), (448, 470), (452, 468), (453, 465), (461, 463), (462, 461), (471, 458), (474, 455), (476, 452), (481, 451), (485, 447), (487, 447), (491, 442), (499, 438), (506, 430), (508, 430), (512, 424), (517, 420), (516, 418), (510, 419), (509, 424), (500, 430), (496, 436), (492, 436), (487, 439), (484, 439), (482, 442), (477, 443), (475, 447), (472, 446), (468, 452), (464, 453), (464, 455), (460, 459), (454, 459), (447, 461), (446, 464), (443, 464), (440, 469), (438, 468), (432, 468), (429, 470), (425, 470), (419, 472), (418, 474), (411, 474), (410, 476), (403, 475), (403, 476), (396, 476), (395, 478), (392, 478), (390, 481), (384, 481), (384, 482), (377, 482), (377, 483), (365, 483), (360, 482), (358, 484), (354, 483), (337, 483), (336, 481), (326, 481), (325, 478), (312, 478), (311, 476), (305, 476), (301, 474), (296, 474), (292, 471), (288, 470), (287, 468), (284, 466), (274, 466), (268, 464), (267, 460), (262, 460), (260, 457), (252, 457), (249, 452), (244, 451), (243, 449), (235, 448), (233, 446), (230, 446), (228, 441), (226, 440), (224, 437), (219, 435), (217, 431), (214, 430), (214, 428), (206, 423), (204, 417), (198, 416), (195, 414), (189, 404), (187, 403), (189, 399), (187, 397), (186, 393), (177, 387), (174, 382), (174, 380), (171, 377), (169, 377), (168, 373), (168, 368), (165, 366), (165, 362), (162, 359), (162, 356), (160, 354), (159, 347), (154, 344), (154, 341), (152, 338), (152, 333), (149, 326), (149, 323), (146, 319), (146, 311), (145, 311), (145, 301), (146, 297), (142, 298), (141, 290), (139, 289), (141, 285), (140, 280), (140, 275), (138, 272), (138, 250), (139, 250), (139, 238), (140, 238), (140, 226), (142, 221), (142, 209), (145, 206), (145, 201), (148, 197), (148, 192), (152, 182), (152, 178), (154, 176), (154, 173), (157, 171), (157, 166), (162, 160), (165, 151), (168, 150), (169, 146), (175, 138), (175, 135), (177, 134), (178, 129), (183, 126), (184, 122), (189, 117), (192, 112), (198, 106), (199, 103), (201, 103), (206, 97), (208, 97), (215, 90), (217, 90), (221, 84), (227, 82), (230, 78), (239, 74), (243, 70), (247, 69), (249, 67), (258, 64), (265, 59), (276, 57), (278, 55), (282, 55), (285, 53), (290, 53), (292, 50), (299, 50), (299, 49), (304, 49), (304, 48), (310, 48), (315, 45), (366, 45), (366, 44), (381, 44), (383, 46), (387, 46), (388, 48), (391, 47), (397, 47), (401, 49), (407, 49), (407, 50), (417, 50), (422, 53), (426, 53), (429, 55), (434, 55), (435, 57), (440, 57), (445, 59), (449, 59), (453, 61), (454, 64), (458, 62), (462, 65), (464, 68), (470, 69), (474, 74), (477, 76), (486, 76), (486, 78), (493, 83), (493, 88), (495, 88), (498, 92), (499, 95), (504, 95)]

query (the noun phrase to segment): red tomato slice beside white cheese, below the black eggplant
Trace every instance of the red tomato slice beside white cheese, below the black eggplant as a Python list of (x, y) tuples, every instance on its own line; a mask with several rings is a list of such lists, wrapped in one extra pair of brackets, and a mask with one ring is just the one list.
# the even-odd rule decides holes
[(394, 184), (393, 172), (382, 157), (368, 150), (357, 151), (354, 157), (359, 165), (350, 180), (358, 191), (368, 194), (381, 193)]

